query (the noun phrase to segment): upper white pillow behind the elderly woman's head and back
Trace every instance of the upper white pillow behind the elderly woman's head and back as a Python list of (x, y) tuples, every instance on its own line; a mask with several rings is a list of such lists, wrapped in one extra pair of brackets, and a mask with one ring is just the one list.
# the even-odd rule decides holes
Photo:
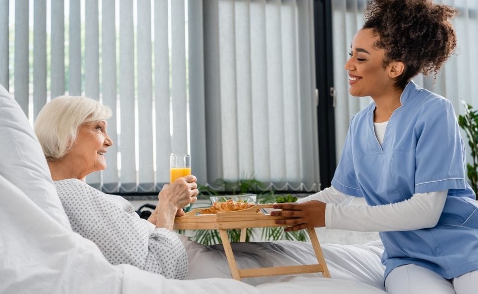
[(0, 175), (71, 230), (37, 136), (20, 105), (1, 85), (0, 154)]

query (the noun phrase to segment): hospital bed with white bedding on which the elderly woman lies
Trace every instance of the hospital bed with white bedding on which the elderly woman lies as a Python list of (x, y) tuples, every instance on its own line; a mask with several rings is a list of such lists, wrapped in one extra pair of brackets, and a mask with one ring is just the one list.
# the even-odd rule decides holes
[[(385, 293), (380, 242), (323, 244), (331, 279), (307, 274), (233, 280), (221, 245), (205, 247), (186, 237), (187, 280), (111, 265), (93, 242), (72, 231), (37, 137), (1, 86), (0, 158), (0, 294)], [(233, 246), (239, 267), (307, 264), (315, 258), (304, 242)]]

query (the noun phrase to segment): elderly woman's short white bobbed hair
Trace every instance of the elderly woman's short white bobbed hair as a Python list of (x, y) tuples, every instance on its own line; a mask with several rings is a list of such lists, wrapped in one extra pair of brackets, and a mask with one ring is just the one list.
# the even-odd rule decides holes
[(52, 99), (38, 113), (35, 132), (47, 160), (57, 160), (69, 151), (78, 128), (111, 117), (108, 106), (91, 98), (61, 96)]

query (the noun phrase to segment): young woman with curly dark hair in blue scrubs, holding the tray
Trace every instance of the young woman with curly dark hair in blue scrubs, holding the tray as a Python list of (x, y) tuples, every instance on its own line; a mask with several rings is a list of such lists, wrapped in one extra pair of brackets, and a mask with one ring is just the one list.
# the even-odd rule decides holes
[[(297, 217), (278, 221), (286, 230), (380, 231), (392, 294), (478, 291), (478, 204), (455, 112), (411, 81), (453, 52), (455, 14), (431, 0), (369, 1), (345, 69), (350, 94), (373, 102), (350, 122), (332, 186), (275, 205)], [(368, 205), (347, 205), (351, 196)]]

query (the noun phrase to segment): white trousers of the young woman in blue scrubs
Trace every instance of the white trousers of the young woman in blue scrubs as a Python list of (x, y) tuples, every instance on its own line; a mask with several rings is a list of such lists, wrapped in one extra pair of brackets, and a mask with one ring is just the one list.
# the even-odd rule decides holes
[(385, 280), (388, 294), (478, 294), (478, 270), (448, 280), (415, 264), (394, 268)]

